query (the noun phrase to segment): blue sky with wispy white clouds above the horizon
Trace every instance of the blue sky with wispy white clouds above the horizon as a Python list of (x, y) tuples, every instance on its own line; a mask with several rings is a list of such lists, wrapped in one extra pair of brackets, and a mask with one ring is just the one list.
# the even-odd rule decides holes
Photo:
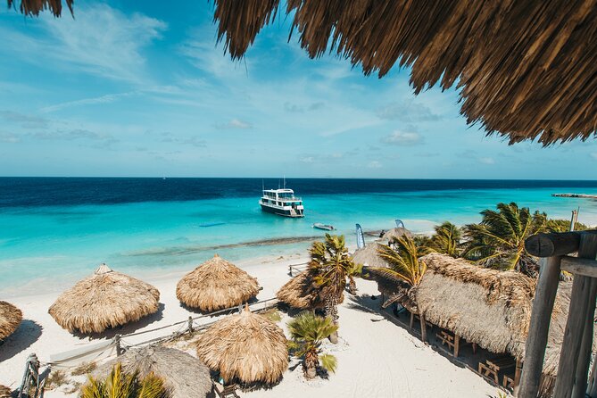
[[(485, 137), (455, 90), (310, 60), (276, 21), (241, 62), (212, 4), (0, 12), (0, 175), (594, 179), (597, 142)], [(547, 173), (549, 170), (549, 174)]]

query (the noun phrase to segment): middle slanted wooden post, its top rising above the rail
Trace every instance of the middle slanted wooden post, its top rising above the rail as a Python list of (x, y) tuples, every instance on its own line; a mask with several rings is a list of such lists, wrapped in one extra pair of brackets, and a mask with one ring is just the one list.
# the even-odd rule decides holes
[[(595, 259), (597, 253), (597, 234), (585, 232), (580, 237), (578, 247), (579, 258)], [(573, 388), (575, 391), (582, 389), (585, 393), (586, 386), (576, 386), (576, 375), (580, 372), (588, 373), (588, 362), (586, 365), (580, 364), (585, 369), (578, 369), (579, 356), (583, 346), (583, 335), (585, 333), (585, 322), (588, 317), (593, 321), (595, 297), (593, 293), (593, 278), (576, 275), (572, 284), (572, 294), (570, 294), (570, 311), (568, 311), (568, 321), (564, 332), (564, 341), (560, 353), (560, 363), (558, 365), (558, 377), (553, 396), (558, 398), (570, 398)], [(593, 303), (590, 303), (593, 299)], [(588, 312), (593, 309), (593, 314)], [(593, 336), (591, 344), (593, 344)], [(578, 377), (582, 381), (583, 377)], [(585, 378), (586, 380), (586, 378)]]

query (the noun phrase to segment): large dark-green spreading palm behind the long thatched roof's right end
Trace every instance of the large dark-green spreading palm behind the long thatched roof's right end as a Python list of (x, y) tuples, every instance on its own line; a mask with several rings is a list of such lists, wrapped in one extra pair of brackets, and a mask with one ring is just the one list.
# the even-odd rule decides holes
[(497, 211), (481, 211), (480, 224), (464, 228), (468, 238), (464, 257), (495, 269), (518, 269), (529, 273), (535, 259), (525, 250), (527, 237), (543, 232), (547, 215), (516, 203), (498, 203)]

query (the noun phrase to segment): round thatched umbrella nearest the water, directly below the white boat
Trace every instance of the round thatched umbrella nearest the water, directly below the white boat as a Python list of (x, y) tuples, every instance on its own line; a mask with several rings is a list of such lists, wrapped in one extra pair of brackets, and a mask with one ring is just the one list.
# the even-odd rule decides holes
[(234, 307), (258, 293), (256, 278), (218, 254), (185, 275), (176, 286), (180, 303), (203, 312)]

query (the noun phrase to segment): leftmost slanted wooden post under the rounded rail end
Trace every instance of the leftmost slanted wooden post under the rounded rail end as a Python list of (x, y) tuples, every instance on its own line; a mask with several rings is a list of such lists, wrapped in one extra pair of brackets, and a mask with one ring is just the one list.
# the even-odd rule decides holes
[(553, 311), (560, 281), (560, 261), (561, 257), (541, 259), (541, 271), (535, 291), (525, 350), (525, 369), (522, 372), (518, 390), (520, 398), (535, 398), (539, 392), (551, 311)]

